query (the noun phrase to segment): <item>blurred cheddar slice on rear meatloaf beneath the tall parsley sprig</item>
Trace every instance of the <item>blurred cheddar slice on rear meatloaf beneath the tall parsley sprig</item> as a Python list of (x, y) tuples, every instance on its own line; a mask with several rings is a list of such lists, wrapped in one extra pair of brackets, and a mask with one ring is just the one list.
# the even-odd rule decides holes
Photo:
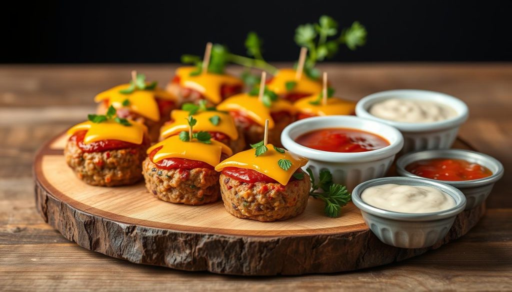
[[(296, 80), (295, 74), (296, 71), (293, 69), (281, 69), (279, 70), (278, 74), (276, 74), (267, 84), (267, 88), (278, 95), (294, 92), (306, 94), (316, 94), (322, 92), (322, 82), (320, 80), (313, 80), (306, 76), (304, 73), (301, 75), (300, 80)], [(289, 81), (297, 82), (291, 91), (286, 89), (286, 82)]]

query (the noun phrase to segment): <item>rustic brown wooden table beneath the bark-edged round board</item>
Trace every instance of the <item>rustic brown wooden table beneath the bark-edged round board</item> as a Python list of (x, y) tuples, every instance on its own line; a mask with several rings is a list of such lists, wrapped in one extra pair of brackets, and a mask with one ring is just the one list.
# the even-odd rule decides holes
[[(357, 100), (419, 88), (464, 100), (460, 136), (505, 166), (487, 215), (463, 238), (395, 264), (334, 275), (248, 278), (136, 265), (80, 248), (34, 208), (32, 160), (45, 140), (92, 113), (131, 69), (166, 82), (174, 65), (0, 65), (0, 290), (512, 290), (512, 64), (324, 64)], [(328, 256), (328, 255), (327, 255)]]

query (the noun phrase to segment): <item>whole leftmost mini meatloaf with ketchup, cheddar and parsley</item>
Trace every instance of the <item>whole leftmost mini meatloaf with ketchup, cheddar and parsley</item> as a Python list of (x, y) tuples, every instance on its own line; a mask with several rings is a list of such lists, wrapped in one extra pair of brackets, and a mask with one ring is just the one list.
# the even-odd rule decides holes
[[(109, 110), (112, 115), (115, 109)], [(90, 115), (68, 130), (64, 149), (78, 178), (93, 186), (130, 185), (142, 178), (142, 161), (150, 146), (146, 127), (113, 116)]]

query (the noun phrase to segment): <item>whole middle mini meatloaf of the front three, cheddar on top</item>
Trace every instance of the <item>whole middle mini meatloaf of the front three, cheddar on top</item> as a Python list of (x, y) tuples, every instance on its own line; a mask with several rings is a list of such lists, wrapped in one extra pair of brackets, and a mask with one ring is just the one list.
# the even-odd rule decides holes
[[(190, 119), (194, 121), (194, 119)], [(147, 150), (142, 164), (146, 188), (171, 203), (203, 205), (220, 198), (219, 173), (214, 167), (232, 154), (231, 149), (207, 132), (183, 131)]]

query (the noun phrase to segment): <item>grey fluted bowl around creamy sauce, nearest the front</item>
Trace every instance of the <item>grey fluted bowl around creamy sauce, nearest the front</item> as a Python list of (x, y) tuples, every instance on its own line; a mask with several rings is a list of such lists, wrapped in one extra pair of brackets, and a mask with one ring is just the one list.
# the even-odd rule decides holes
[[(361, 199), (362, 192), (367, 188), (385, 184), (434, 187), (450, 195), (455, 200), (455, 206), (431, 213), (402, 213), (373, 207)], [(442, 240), (466, 206), (466, 197), (458, 189), (411, 177), (382, 177), (364, 182), (352, 192), (352, 201), (380, 241), (406, 249), (426, 248)]]

